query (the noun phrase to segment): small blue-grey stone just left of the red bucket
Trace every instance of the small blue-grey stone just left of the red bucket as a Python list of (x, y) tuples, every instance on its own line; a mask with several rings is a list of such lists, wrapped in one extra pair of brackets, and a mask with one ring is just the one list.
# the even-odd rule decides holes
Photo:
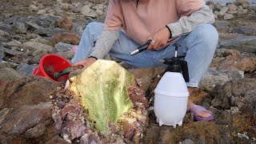
[(17, 66), (17, 71), (19, 74), (21, 74), (23, 77), (29, 77), (35, 68), (37, 68), (38, 65), (28, 65), (26, 63), (20, 63)]

